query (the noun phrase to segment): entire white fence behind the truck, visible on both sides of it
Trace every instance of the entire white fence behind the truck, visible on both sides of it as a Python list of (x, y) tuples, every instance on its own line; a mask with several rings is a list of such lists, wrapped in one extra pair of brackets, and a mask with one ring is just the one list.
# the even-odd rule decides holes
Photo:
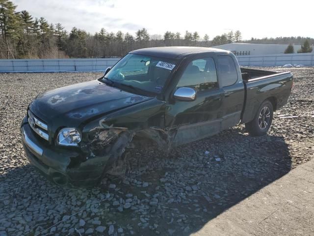
[[(236, 58), (242, 66), (314, 65), (314, 53), (248, 55)], [(0, 59), (0, 72), (104, 71), (119, 59)]]

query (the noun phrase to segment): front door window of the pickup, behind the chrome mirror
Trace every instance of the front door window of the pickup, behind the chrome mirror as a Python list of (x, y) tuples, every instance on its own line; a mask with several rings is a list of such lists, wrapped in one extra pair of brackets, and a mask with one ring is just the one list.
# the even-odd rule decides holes
[(212, 58), (196, 59), (185, 68), (177, 88), (190, 87), (196, 90), (218, 88), (217, 71)]

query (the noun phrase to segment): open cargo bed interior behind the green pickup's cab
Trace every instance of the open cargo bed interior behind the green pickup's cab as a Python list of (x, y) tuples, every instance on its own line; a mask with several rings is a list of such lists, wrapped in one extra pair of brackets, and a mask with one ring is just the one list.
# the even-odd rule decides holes
[(242, 80), (244, 83), (268, 79), (274, 76), (289, 74), (290, 72), (278, 72), (273, 70), (251, 69), (240, 67)]

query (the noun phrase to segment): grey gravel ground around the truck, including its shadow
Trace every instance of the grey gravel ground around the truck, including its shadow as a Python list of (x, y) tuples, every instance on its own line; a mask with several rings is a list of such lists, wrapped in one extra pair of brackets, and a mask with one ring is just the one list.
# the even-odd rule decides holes
[(240, 125), (177, 148), (171, 156), (152, 148), (133, 150), (125, 177), (90, 189), (61, 188), (42, 177), (23, 152), (20, 122), (39, 92), (101, 74), (0, 74), (0, 236), (198, 231), (313, 157), (314, 68), (280, 70), (293, 72), (294, 87), (267, 136), (251, 137)]

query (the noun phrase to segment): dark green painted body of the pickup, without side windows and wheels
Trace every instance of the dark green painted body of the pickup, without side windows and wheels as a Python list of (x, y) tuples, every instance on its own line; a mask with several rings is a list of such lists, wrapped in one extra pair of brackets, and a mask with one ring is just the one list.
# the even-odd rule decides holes
[[(30, 162), (55, 183), (98, 183), (96, 180), (123, 156), (134, 137), (149, 139), (170, 151), (232, 127), (241, 119), (250, 121), (267, 98), (273, 99), (275, 108), (284, 105), (292, 84), (290, 73), (243, 83), (235, 56), (224, 50), (170, 47), (131, 53), (170, 58), (176, 63), (151, 63), (164, 70), (171, 68), (169, 78), (156, 94), (115, 88), (99, 79), (45, 92), (29, 105), (29, 111), (47, 123), (44, 132), (48, 132), (49, 139), (39, 137), (31, 127), (36, 124), (29, 123), (26, 116), (21, 125), (23, 147)], [(216, 89), (198, 91), (193, 101), (175, 99), (173, 93), (188, 64), (208, 57), (217, 61), (217, 55), (228, 55), (234, 60), (236, 83), (223, 87), (224, 78), (217, 69)], [(136, 75), (131, 77), (129, 82), (133, 83)], [(65, 127), (74, 127), (80, 133), (76, 147), (58, 145), (58, 133)]]

